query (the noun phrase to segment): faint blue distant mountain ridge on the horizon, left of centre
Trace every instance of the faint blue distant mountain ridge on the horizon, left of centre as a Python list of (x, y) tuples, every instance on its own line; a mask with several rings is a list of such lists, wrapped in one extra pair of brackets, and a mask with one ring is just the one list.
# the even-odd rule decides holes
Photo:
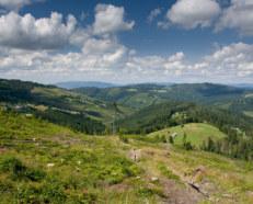
[(102, 88), (118, 87), (119, 84), (101, 82), (101, 81), (66, 81), (66, 82), (56, 83), (56, 86), (64, 89), (91, 88), (91, 87), (102, 89)]

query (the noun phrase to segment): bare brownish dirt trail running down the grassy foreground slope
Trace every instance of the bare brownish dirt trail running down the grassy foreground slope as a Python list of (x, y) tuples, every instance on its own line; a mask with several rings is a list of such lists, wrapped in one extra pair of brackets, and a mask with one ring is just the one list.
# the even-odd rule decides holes
[(181, 183), (161, 174), (158, 170), (158, 162), (162, 160), (164, 165), (166, 165), (166, 160), (169, 159), (169, 151), (166, 149), (163, 150), (152, 147), (142, 147), (138, 149), (138, 151), (141, 152), (142, 157), (139, 165), (145, 167), (147, 179), (152, 180), (152, 178), (156, 178), (163, 188), (165, 199), (162, 199), (161, 203), (196, 204), (206, 199), (202, 192), (198, 192), (189, 185), (189, 181), (184, 178), (184, 175), (175, 172), (173, 169), (170, 168), (174, 174), (180, 177)]

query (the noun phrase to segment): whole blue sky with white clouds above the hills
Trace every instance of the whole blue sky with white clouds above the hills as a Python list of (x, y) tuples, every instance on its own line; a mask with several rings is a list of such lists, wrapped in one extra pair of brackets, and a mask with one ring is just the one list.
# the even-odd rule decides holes
[(253, 0), (0, 0), (0, 78), (253, 83)]

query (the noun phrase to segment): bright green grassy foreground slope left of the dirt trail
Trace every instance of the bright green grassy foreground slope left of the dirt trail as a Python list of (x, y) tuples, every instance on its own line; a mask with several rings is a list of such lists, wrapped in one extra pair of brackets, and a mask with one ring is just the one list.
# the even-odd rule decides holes
[[(87, 136), (0, 111), (0, 203), (157, 203), (117, 137)], [(123, 150), (124, 149), (124, 150)]]

